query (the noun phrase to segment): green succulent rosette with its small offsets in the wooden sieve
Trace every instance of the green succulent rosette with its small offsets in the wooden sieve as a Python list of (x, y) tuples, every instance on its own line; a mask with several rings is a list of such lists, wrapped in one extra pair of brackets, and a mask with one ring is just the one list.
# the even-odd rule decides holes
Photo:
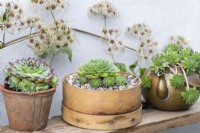
[[(122, 68), (125, 69), (124, 66)], [(103, 59), (90, 60), (81, 66), (77, 72), (76, 80), (80, 84), (88, 83), (92, 88), (124, 86), (127, 82), (126, 77), (119, 73), (116, 64)]]

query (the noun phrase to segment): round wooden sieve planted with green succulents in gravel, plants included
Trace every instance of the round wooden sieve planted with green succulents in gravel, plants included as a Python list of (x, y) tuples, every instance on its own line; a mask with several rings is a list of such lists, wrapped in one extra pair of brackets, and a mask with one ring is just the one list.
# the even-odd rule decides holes
[[(140, 84), (138, 77), (119, 72), (115, 64), (107, 60), (90, 60), (63, 79), (62, 117), (72, 125), (89, 129), (136, 125), (141, 121)], [(124, 115), (128, 115), (126, 120)], [(115, 116), (120, 117), (114, 120)], [(104, 123), (102, 119), (106, 119)], [(134, 121), (130, 123), (131, 119)], [(116, 125), (109, 121), (116, 121)], [(122, 124), (124, 122), (127, 124)]]

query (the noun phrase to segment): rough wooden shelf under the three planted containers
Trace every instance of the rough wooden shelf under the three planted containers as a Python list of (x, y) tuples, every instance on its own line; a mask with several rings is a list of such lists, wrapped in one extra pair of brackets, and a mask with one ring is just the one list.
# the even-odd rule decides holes
[[(49, 120), (46, 129), (32, 133), (153, 133), (168, 128), (189, 125), (200, 122), (200, 100), (187, 111), (168, 112), (155, 109), (145, 109), (142, 112), (142, 122), (136, 127), (116, 131), (94, 131), (70, 126), (61, 117)], [(13, 131), (8, 126), (1, 127), (1, 133), (21, 133)], [(29, 133), (29, 132), (24, 132)]]

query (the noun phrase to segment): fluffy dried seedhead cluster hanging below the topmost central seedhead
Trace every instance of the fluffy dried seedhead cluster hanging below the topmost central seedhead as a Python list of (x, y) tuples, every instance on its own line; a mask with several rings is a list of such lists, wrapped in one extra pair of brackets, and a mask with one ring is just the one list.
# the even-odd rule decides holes
[(102, 37), (106, 40), (108, 44), (107, 51), (109, 53), (113, 52), (123, 52), (125, 47), (121, 40), (118, 39), (119, 31), (117, 29), (102, 29)]

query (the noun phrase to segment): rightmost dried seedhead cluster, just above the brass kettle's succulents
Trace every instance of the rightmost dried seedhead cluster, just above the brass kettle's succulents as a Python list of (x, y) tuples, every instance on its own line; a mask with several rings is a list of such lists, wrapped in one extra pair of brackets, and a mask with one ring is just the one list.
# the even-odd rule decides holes
[(188, 45), (188, 41), (183, 36), (170, 36), (169, 43), (170, 44), (179, 44), (182, 46)]

